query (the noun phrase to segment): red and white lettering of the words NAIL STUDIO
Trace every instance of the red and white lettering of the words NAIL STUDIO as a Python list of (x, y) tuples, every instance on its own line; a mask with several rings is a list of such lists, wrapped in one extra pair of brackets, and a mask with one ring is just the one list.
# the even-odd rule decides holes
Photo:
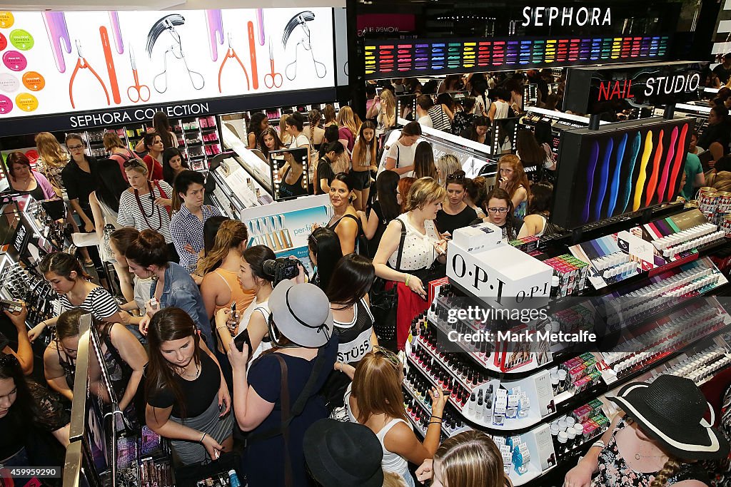
[[(700, 73), (648, 77), (643, 80), (643, 83), (635, 83), (635, 86), (641, 85), (645, 86), (642, 93), (645, 99), (653, 99), (664, 95), (677, 95), (679, 93), (692, 93), (700, 87)], [(632, 93), (632, 80), (608, 80), (599, 83), (599, 93), (596, 96), (596, 101), (626, 98), (635, 98), (635, 93)]]

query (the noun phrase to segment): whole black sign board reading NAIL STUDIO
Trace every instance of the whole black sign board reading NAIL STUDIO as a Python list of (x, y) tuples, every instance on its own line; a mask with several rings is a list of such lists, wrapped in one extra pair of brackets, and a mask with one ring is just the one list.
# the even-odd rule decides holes
[(569, 69), (564, 110), (602, 113), (618, 100), (665, 105), (697, 100), (708, 62), (626, 64)]

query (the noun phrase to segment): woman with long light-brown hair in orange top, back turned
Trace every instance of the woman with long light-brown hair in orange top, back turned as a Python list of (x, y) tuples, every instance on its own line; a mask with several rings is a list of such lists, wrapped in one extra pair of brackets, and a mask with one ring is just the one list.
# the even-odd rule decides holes
[[(238, 279), (241, 256), (248, 241), (246, 225), (237, 220), (226, 220), (219, 226), (213, 249), (198, 262), (196, 274), (204, 276), (200, 294), (208, 318), (213, 318), (218, 310), (230, 308), (234, 303), (236, 310), (243, 312), (254, 301), (254, 292), (241, 287)], [(223, 328), (226, 327), (216, 331), (220, 338), (219, 351), (226, 353), (223, 342), (230, 342), (231, 334)]]

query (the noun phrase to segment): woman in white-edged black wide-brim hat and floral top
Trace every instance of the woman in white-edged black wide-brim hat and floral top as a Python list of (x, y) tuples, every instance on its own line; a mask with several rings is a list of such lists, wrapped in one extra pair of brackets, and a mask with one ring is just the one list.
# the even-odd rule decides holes
[(701, 487), (708, 472), (696, 461), (729, 453), (727, 440), (711, 429), (713, 418), (703, 419), (708, 403), (690, 379), (660, 375), (609, 399), (624, 415), (569, 470), (564, 486)]

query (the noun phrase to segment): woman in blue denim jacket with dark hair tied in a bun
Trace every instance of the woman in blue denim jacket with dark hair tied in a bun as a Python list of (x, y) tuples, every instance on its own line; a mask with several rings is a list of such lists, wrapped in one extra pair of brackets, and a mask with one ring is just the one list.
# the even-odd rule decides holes
[(129, 269), (137, 277), (152, 277), (153, 280), (147, 314), (140, 321), (140, 333), (147, 335), (148, 323), (155, 312), (178, 307), (193, 318), (208, 348), (214, 350), (211, 321), (205, 312), (200, 290), (186, 269), (167, 261), (164, 237), (154, 230), (141, 231), (140, 237), (127, 248), (126, 258)]

